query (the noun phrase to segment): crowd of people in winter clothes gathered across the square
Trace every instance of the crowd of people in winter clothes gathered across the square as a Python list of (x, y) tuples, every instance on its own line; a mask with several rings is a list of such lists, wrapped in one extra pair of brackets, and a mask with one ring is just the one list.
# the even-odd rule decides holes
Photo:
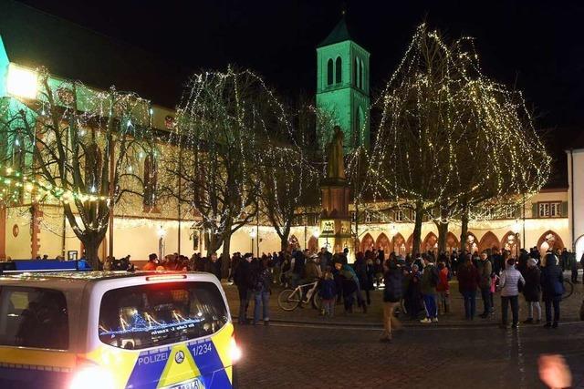
[[(578, 261), (575, 255), (564, 251), (548, 251), (543, 255), (537, 248), (521, 250), (516, 257), (510, 251), (487, 250), (453, 251), (435, 255), (428, 251), (412, 256), (383, 251), (357, 252), (349, 264), (349, 251), (332, 254), (326, 248), (318, 253), (293, 249), (253, 254), (239, 252), (230, 258), (227, 281), (235, 283), (240, 301), (238, 321), (248, 323), (247, 312), (254, 302), (253, 323), (269, 323), (269, 298), (272, 287), (296, 288), (298, 285), (318, 282), (322, 299), (321, 314), (333, 316), (341, 304), (348, 314), (355, 308), (367, 312), (370, 292), (383, 289), (384, 328), (382, 340), (391, 340), (391, 328), (399, 325), (396, 312), (422, 323), (438, 322), (439, 312), (451, 311), (451, 282), (458, 282), (458, 291), (464, 300), (464, 318), (487, 319), (494, 316), (495, 292), (500, 292), (501, 327), (516, 328), (519, 321), (519, 295), (527, 305), (525, 323), (542, 322), (541, 302), (545, 304), (545, 326), (556, 328), (559, 322), (559, 303), (564, 292), (563, 271), (572, 271), (572, 282), (578, 280)], [(584, 255), (580, 259), (584, 268)], [(120, 260), (108, 258), (105, 270), (132, 270), (130, 256)], [(144, 271), (206, 271), (219, 280), (223, 276), (222, 259), (212, 253), (208, 258), (193, 254), (188, 258), (178, 253), (162, 260), (156, 254), (142, 267)], [(476, 298), (480, 296), (482, 312), (477, 314)], [(308, 302), (305, 294), (301, 303)], [(511, 311), (511, 320), (508, 311)], [(421, 318), (422, 316), (422, 318)]]

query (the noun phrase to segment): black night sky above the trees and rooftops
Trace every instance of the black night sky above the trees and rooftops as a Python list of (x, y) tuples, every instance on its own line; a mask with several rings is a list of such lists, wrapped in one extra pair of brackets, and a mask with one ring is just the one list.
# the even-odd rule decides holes
[(537, 128), (551, 128), (548, 144), (558, 166), (562, 148), (584, 131), (584, 2), (23, 3), (193, 71), (228, 63), (253, 68), (290, 97), (314, 93), (315, 47), (338, 23), (341, 9), (347, 9), (351, 35), (371, 53), (372, 90), (383, 86), (425, 19), (447, 36), (474, 36), (485, 74), (524, 91)]

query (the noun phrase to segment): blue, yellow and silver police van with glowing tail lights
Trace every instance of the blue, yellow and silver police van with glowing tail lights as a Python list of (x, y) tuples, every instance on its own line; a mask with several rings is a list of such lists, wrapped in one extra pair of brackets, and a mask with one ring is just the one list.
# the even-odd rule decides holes
[(0, 388), (232, 388), (240, 356), (212, 274), (0, 276)]

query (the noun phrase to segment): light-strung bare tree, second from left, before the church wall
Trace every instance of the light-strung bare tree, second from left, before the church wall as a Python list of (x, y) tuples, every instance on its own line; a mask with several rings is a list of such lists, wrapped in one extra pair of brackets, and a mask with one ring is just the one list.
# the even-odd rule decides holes
[(207, 254), (223, 245), (225, 265), (231, 236), (258, 209), (258, 150), (286, 120), (272, 91), (248, 70), (195, 75), (183, 94), (163, 192), (200, 214)]

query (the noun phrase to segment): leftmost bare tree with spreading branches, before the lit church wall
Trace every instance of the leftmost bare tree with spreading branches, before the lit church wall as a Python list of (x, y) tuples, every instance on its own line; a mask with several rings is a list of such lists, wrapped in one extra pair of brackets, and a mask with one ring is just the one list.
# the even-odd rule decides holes
[(97, 268), (115, 204), (125, 194), (142, 195), (132, 167), (152, 147), (150, 103), (114, 87), (97, 91), (60, 81), (40, 69), (37, 98), (8, 105), (2, 117), (0, 132), (12, 145), (5, 165), (32, 194), (33, 207), (60, 201)]

